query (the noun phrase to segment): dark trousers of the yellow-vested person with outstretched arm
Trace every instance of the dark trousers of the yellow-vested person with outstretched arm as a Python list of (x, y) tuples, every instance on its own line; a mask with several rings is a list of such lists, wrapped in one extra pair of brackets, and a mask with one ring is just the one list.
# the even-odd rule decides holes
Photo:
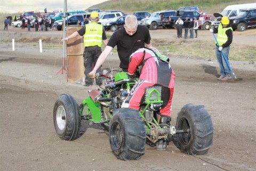
[[(85, 48), (86, 49), (86, 48)], [(84, 75), (85, 75), (85, 84), (92, 85), (93, 79), (88, 77), (88, 74), (92, 71), (92, 64), (95, 66), (99, 56), (101, 54), (101, 49), (94, 51), (84, 51)], [(99, 68), (96, 72), (100, 72), (101, 68)], [(101, 84), (101, 78), (96, 79), (96, 84)]]

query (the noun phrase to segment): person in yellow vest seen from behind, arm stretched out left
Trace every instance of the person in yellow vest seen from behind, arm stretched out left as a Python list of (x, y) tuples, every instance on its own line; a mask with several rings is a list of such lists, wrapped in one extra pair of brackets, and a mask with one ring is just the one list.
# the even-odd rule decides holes
[[(73, 34), (68, 37), (62, 38), (61, 42), (74, 38), (78, 35), (84, 36), (84, 67), (85, 67), (85, 84), (84, 86), (92, 86), (93, 79), (88, 77), (89, 72), (92, 70), (92, 64), (96, 64), (100, 54), (101, 54), (101, 45), (102, 42), (105, 46), (108, 44), (108, 39), (106, 36), (105, 29), (102, 25), (97, 23), (99, 21), (99, 14), (95, 11), (91, 13), (89, 18), (91, 21), (89, 24), (84, 25), (78, 31), (73, 32)], [(97, 72), (100, 72), (101, 68), (97, 69)], [(102, 81), (100, 78), (96, 79), (96, 85), (101, 86)]]

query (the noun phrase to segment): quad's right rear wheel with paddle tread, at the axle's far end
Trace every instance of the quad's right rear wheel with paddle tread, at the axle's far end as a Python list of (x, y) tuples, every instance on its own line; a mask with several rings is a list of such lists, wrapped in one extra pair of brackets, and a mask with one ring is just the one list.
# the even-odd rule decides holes
[(212, 120), (204, 105), (186, 104), (178, 113), (176, 129), (189, 130), (177, 134), (179, 148), (186, 154), (206, 154), (213, 144)]

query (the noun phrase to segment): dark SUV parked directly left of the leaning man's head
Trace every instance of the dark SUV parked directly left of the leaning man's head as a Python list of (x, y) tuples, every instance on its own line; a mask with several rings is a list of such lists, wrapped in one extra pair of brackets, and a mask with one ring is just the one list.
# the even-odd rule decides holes
[(119, 28), (124, 27), (124, 20), (125, 16), (116, 17), (107, 23), (103, 23), (102, 26), (105, 28), (105, 30), (116, 31)]

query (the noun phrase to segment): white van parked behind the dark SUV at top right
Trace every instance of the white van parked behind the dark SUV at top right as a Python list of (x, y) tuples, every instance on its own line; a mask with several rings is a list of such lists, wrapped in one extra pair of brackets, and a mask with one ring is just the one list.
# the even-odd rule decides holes
[(223, 16), (234, 17), (237, 16), (241, 10), (251, 9), (253, 7), (256, 7), (256, 3), (228, 5), (221, 13), (213, 14), (215, 17), (213, 27), (219, 26), (220, 20)]

